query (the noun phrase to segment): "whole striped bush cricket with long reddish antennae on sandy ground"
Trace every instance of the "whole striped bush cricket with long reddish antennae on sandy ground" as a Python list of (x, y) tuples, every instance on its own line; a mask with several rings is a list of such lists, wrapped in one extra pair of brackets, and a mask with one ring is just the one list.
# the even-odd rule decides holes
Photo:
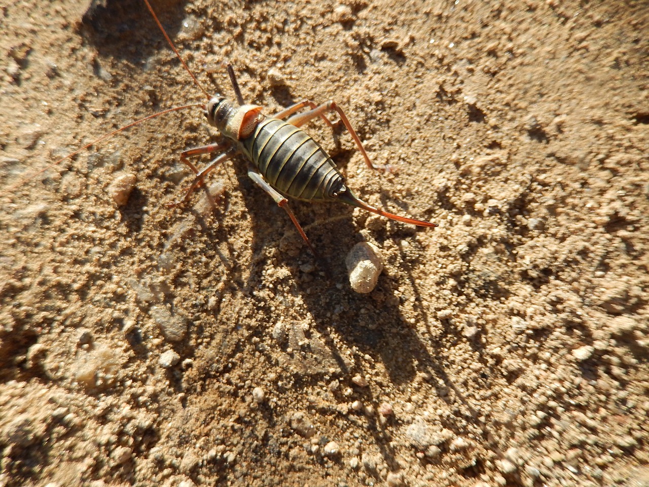
[[(236, 95), (237, 104), (228, 101), (228, 99), (219, 94), (210, 97), (206, 90), (202, 88), (195, 75), (193, 75), (190, 68), (188, 68), (182, 56), (178, 53), (175, 45), (158, 20), (149, 0), (143, 1), (184, 69), (186, 69), (195, 84), (209, 98), (207, 105), (186, 105), (171, 108), (130, 123), (67, 155), (63, 159), (55, 162), (55, 164), (79, 153), (86, 149), (86, 147), (90, 147), (90, 145), (96, 144), (99, 140), (103, 140), (116, 132), (132, 127), (147, 119), (191, 106), (201, 106), (204, 110), (204, 116), (208, 119), (210, 125), (216, 127), (221, 135), (224, 136), (225, 140), (215, 144), (196, 147), (180, 154), (180, 160), (191, 168), (195, 173), (195, 177), (188, 190), (186, 190), (182, 200), (172, 203), (172, 205), (187, 201), (193, 191), (201, 186), (204, 177), (217, 165), (241, 155), (248, 162), (249, 177), (269, 194), (278, 206), (286, 210), (300, 236), (302, 236), (302, 239), (314, 254), (315, 250), (308, 237), (300, 226), (299, 221), (297, 221), (297, 218), (295, 218), (295, 214), (293, 214), (293, 211), (288, 206), (288, 198), (308, 202), (340, 201), (347, 205), (357, 206), (363, 210), (404, 223), (410, 223), (420, 227), (437, 227), (436, 223), (398, 216), (380, 208), (374, 208), (361, 201), (345, 185), (345, 178), (337, 170), (336, 164), (331, 156), (311, 136), (300, 129), (302, 125), (315, 118), (322, 118), (328, 126), (334, 127), (326, 117), (326, 112), (336, 112), (338, 114), (369, 168), (380, 170), (389, 170), (390, 168), (389, 166), (376, 166), (371, 162), (363, 148), (363, 144), (361, 144), (360, 138), (358, 138), (349, 119), (345, 116), (345, 112), (343, 112), (336, 102), (328, 101), (318, 106), (313, 101), (305, 99), (288, 108), (284, 108), (284, 110), (281, 110), (274, 116), (267, 116), (262, 113), (262, 106), (245, 103), (234, 74), (234, 69), (229, 64), (227, 64), (226, 68), (230, 81), (232, 82), (234, 94)], [(299, 113), (300, 110), (306, 107), (310, 108), (310, 110)], [(190, 160), (190, 158), (195, 156), (214, 153), (219, 153), (219, 155), (215, 156), (208, 165), (200, 170)]]

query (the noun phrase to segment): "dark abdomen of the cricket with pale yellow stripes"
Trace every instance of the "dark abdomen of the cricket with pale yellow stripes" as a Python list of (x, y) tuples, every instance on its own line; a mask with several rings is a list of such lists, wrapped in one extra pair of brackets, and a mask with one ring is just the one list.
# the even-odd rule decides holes
[(267, 118), (239, 142), (263, 179), (285, 196), (317, 201), (345, 188), (332, 158), (295, 125)]

